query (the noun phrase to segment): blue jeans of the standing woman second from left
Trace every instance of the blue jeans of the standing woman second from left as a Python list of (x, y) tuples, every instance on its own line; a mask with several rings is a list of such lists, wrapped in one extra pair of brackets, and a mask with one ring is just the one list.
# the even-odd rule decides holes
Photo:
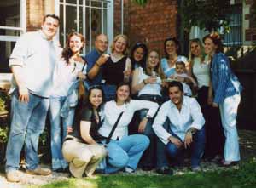
[[(52, 169), (67, 168), (68, 164), (62, 156), (62, 143), (67, 135), (67, 127), (73, 127), (74, 107), (70, 107), (67, 117), (61, 117), (61, 108), (67, 97), (49, 98), (50, 146)], [(62, 133), (61, 133), (62, 131)]]

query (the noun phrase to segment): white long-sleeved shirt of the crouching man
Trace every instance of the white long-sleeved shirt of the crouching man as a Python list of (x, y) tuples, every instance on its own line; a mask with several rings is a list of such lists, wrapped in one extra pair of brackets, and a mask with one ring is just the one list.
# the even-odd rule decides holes
[(181, 111), (177, 110), (176, 105), (171, 100), (161, 105), (157, 116), (154, 118), (153, 129), (155, 134), (164, 143), (168, 143), (168, 138), (172, 136), (169, 131), (163, 127), (166, 118), (170, 120), (170, 128), (181, 140), (184, 140), (189, 128), (200, 130), (205, 124), (205, 119), (201, 113), (201, 107), (195, 98), (183, 96), (183, 105)]

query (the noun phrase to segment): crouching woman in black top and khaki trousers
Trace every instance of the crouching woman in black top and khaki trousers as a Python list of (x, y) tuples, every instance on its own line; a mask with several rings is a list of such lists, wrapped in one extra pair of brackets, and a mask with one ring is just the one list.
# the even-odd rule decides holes
[(69, 171), (76, 178), (82, 178), (84, 173), (90, 177), (107, 153), (96, 142), (96, 133), (102, 123), (102, 88), (93, 86), (88, 93), (82, 111), (78, 111), (74, 130), (67, 134), (62, 146), (63, 157), (69, 162)]

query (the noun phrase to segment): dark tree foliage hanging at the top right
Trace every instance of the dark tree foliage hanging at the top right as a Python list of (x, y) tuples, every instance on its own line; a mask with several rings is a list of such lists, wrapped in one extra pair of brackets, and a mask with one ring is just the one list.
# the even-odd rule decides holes
[[(144, 6), (148, 0), (134, 0)], [(230, 0), (177, 0), (180, 4), (178, 13), (182, 14), (185, 30), (199, 26), (206, 31), (218, 31), (223, 27), (229, 31)]]

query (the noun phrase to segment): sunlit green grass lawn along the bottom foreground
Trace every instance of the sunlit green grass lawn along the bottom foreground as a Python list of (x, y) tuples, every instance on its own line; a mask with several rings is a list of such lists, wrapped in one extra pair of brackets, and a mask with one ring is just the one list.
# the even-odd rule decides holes
[[(243, 178), (234, 175), (237, 170), (183, 174), (183, 175), (99, 175), (94, 179), (69, 179), (31, 188), (249, 188)], [(256, 175), (256, 174), (254, 174)]]

